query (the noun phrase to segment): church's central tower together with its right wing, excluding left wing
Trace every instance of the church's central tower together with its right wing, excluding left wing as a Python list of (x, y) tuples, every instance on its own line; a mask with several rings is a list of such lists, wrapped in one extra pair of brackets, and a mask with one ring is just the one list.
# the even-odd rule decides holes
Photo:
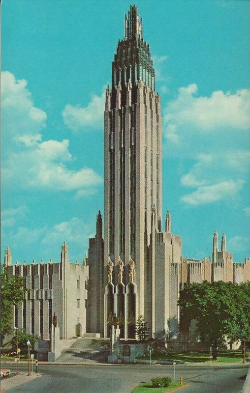
[(160, 96), (134, 5), (125, 15), (125, 36), (106, 90), (104, 243), (99, 212), (89, 247), (90, 333), (110, 337), (111, 327), (119, 326), (122, 338), (134, 338), (142, 314), (152, 337), (175, 337), (179, 290), (185, 283), (250, 280), (250, 260), (233, 263), (225, 235), (218, 250), (217, 232), (212, 262), (182, 257), (182, 241), (172, 234), (169, 212), (161, 229), (161, 191)]

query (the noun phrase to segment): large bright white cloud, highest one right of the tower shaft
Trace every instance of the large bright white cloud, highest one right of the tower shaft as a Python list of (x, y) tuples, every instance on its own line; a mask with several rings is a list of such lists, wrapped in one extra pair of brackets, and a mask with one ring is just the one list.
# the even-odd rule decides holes
[[(249, 128), (250, 90), (240, 89), (235, 94), (214, 91), (210, 97), (196, 97), (198, 87), (189, 84), (180, 87), (176, 100), (168, 103), (163, 111), (164, 124), (186, 127), (192, 125), (199, 132), (217, 131), (232, 127), (238, 130)], [(168, 131), (167, 131), (168, 134)]]

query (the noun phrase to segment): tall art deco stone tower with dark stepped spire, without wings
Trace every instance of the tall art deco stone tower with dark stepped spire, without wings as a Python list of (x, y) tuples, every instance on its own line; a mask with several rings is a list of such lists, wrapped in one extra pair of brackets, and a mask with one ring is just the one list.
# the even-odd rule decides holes
[[(104, 337), (114, 318), (134, 337), (135, 319), (151, 320), (161, 217), (161, 113), (155, 70), (137, 7), (112, 63), (104, 114)], [(150, 289), (149, 289), (150, 288)]]

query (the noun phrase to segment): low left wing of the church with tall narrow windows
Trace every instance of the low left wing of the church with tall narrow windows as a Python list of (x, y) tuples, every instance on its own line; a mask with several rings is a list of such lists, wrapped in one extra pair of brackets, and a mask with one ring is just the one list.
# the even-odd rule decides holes
[(4, 264), (8, 275), (25, 278), (27, 288), (21, 306), (13, 310), (13, 327), (47, 340), (55, 313), (61, 338), (82, 336), (86, 332), (87, 258), (82, 264), (69, 263), (68, 247), (63, 243), (60, 262), (42, 260), (12, 265), (11, 251), (7, 248)]

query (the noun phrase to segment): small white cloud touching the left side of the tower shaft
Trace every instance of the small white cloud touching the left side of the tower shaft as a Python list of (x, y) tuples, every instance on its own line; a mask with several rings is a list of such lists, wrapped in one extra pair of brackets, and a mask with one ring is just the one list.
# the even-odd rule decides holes
[(68, 104), (62, 112), (63, 122), (73, 131), (78, 131), (83, 127), (101, 127), (103, 122), (104, 103), (105, 90), (103, 90), (101, 96), (94, 94), (85, 108), (81, 108), (80, 105), (72, 106)]

